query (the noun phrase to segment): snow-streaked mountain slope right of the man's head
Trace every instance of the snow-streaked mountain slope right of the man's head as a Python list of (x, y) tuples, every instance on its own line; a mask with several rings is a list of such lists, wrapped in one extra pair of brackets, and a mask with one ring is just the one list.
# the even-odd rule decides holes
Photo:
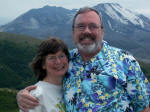
[(114, 3), (99, 4), (94, 8), (102, 15), (105, 40), (150, 63), (150, 19)]

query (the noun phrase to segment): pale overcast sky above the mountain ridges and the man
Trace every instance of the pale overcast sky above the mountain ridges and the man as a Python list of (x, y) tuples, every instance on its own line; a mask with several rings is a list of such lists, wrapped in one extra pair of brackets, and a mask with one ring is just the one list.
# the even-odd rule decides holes
[(0, 0), (0, 18), (14, 19), (30, 9), (45, 5), (73, 9), (100, 3), (119, 3), (124, 8), (150, 18), (150, 0)]

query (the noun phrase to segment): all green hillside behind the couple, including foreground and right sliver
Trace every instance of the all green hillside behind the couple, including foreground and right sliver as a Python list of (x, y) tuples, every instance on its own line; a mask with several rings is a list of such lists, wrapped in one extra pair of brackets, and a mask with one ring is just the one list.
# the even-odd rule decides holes
[[(0, 32), (0, 112), (18, 112), (16, 90), (35, 83), (28, 64), (40, 42), (33, 37)], [(150, 64), (140, 65), (150, 79)]]

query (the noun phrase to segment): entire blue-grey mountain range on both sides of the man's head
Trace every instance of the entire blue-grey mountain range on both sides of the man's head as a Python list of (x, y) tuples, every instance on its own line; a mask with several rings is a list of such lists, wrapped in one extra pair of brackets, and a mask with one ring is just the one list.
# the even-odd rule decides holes
[[(150, 19), (116, 3), (94, 6), (102, 16), (104, 38), (110, 44), (131, 51), (136, 57), (150, 63)], [(14, 21), (0, 27), (0, 31), (27, 34), (37, 38), (55, 36), (70, 47), (72, 19), (77, 9), (45, 6), (32, 9)]]

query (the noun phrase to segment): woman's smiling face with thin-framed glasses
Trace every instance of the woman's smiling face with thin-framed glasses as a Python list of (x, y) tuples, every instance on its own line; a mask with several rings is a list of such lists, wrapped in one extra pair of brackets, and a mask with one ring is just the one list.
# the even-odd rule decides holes
[(63, 77), (68, 70), (67, 56), (63, 51), (58, 51), (56, 54), (48, 54), (42, 67), (49, 76)]

